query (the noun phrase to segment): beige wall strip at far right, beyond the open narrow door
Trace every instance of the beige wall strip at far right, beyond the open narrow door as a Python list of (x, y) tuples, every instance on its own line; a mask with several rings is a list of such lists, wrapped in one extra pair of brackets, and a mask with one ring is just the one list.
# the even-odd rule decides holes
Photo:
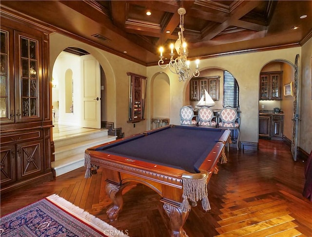
[(300, 56), (300, 78), (301, 78), (301, 96), (300, 96), (300, 133), (299, 144), (305, 152), (312, 150), (312, 38), (308, 40), (301, 50)]

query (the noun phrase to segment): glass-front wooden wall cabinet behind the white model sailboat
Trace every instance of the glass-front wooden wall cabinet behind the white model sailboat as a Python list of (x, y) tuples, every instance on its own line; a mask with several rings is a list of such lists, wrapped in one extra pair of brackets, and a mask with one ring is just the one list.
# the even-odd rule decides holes
[(190, 100), (200, 100), (205, 94), (205, 89), (213, 100), (219, 100), (219, 79), (219, 76), (191, 79)]

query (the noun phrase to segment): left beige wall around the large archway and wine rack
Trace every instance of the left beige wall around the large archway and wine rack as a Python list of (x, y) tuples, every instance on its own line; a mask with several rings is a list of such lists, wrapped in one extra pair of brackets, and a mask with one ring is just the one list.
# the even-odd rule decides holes
[(116, 55), (92, 47), (60, 35), (50, 34), (50, 77), (58, 55), (67, 47), (78, 47), (92, 54), (102, 66), (106, 76), (107, 101), (102, 110), (106, 110), (107, 121), (115, 122), (115, 127), (122, 127), (125, 136), (140, 133), (146, 130), (147, 120), (136, 123), (127, 123), (129, 120), (129, 77), (127, 72), (146, 76), (146, 67), (138, 63), (120, 58)]

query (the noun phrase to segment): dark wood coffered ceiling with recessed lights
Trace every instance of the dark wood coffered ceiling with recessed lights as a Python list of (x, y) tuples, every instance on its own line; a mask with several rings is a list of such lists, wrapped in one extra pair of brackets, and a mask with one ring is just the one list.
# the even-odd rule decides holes
[[(180, 6), (186, 9), (189, 58), (299, 46), (312, 37), (312, 0), (2, 0), (0, 4), (2, 11), (30, 16), (53, 31), (143, 65), (156, 64), (161, 45), (169, 58), (169, 44), (179, 30)], [(301, 19), (303, 15), (307, 17)]]

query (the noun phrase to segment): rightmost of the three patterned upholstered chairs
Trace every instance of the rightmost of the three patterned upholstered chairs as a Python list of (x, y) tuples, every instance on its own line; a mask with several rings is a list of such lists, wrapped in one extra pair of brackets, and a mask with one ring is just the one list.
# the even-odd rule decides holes
[[(237, 111), (231, 107), (225, 107), (220, 111), (218, 117), (218, 126), (219, 128), (235, 130), (237, 131), (237, 139), (231, 138), (232, 140), (236, 140), (236, 148), (239, 149), (239, 118), (237, 115)], [(230, 146), (230, 140), (228, 141), (228, 151)]]

